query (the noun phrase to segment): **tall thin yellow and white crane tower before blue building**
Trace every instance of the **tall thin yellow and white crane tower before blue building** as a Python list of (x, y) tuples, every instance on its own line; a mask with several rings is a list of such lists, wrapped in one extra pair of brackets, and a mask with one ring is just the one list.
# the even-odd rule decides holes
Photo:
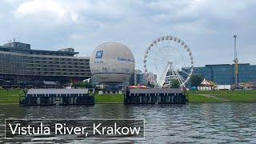
[(237, 35), (234, 34), (234, 86), (238, 88), (238, 54), (237, 54)]

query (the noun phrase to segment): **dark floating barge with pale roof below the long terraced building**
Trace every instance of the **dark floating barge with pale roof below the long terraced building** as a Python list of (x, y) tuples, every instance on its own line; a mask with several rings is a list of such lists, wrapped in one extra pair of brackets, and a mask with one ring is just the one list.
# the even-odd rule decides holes
[(30, 89), (25, 98), (20, 98), (23, 106), (94, 105), (94, 96), (88, 89)]

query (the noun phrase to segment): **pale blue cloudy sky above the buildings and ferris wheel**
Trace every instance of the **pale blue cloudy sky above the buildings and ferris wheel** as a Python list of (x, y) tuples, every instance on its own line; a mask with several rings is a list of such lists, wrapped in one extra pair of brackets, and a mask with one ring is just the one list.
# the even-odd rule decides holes
[(239, 61), (256, 64), (255, 14), (255, 0), (1, 0), (0, 44), (16, 38), (89, 56), (102, 42), (122, 42), (142, 69), (146, 47), (163, 35), (186, 42), (195, 66), (231, 63), (237, 34)]

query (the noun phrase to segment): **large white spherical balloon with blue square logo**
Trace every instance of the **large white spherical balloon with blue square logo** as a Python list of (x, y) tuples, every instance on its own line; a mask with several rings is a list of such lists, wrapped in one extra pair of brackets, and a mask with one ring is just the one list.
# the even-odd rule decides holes
[(90, 70), (101, 83), (126, 82), (134, 74), (134, 54), (121, 43), (102, 43), (90, 56)]

